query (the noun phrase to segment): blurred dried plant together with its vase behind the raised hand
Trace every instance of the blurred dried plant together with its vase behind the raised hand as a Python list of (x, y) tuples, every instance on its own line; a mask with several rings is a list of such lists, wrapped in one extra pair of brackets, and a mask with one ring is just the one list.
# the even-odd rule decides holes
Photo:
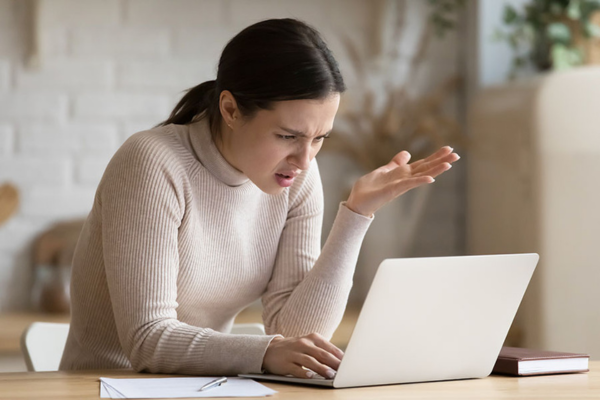
[[(425, 94), (415, 94), (411, 84), (422, 71), (427, 50), (437, 34), (443, 36), (453, 27), (452, 17), (462, 4), (460, 0), (430, 0), (430, 14), (424, 24), (416, 50), (407, 60), (401, 57), (398, 38), (406, 21), (406, 2), (386, 2), (382, 13), (386, 21), (378, 54), (362, 55), (350, 39), (343, 39), (358, 86), (343, 96), (334, 132), (323, 147), (327, 153), (341, 153), (363, 170), (371, 171), (387, 164), (401, 150), (408, 150), (413, 160), (423, 158), (443, 145), (465, 146), (460, 124), (447, 111), (449, 100), (456, 95), (460, 78), (445, 79)], [(415, 3), (412, 3), (413, 5)], [(421, 3), (422, 4), (422, 3)], [(448, 4), (451, 7), (447, 7)], [(403, 82), (396, 82), (398, 71), (405, 70)], [(358, 99), (358, 101), (356, 101)], [(354, 104), (348, 105), (348, 101)], [(344, 171), (340, 181), (350, 184), (352, 172)], [(341, 198), (347, 198), (348, 193)], [(426, 185), (403, 195), (378, 211), (365, 237), (355, 275), (356, 285), (350, 301), (360, 304), (383, 258), (404, 257), (414, 248), (415, 231), (421, 225), (431, 193)]]

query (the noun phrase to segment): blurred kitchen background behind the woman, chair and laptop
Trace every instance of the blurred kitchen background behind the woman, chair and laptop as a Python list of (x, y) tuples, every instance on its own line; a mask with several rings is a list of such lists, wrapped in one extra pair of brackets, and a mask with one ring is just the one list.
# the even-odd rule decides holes
[[(434, 185), (378, 212), (343, 346), (385, 258), (538, 252), (508, 345), (600, 357), (595, 0), (0, 0), (0, 371), (32, 321), (69, 320), (70, 262), (114, 152), (216, 77), (227, 41), (299, 18), (348, 90), (318, 155), (323, 240), (353, 182), (451, 145)], [(239, 321), (260, 319), (260, 304)]]

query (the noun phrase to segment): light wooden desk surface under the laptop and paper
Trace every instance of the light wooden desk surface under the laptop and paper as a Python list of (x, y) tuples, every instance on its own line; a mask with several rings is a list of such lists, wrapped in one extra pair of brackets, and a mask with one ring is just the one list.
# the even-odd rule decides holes
[[(99, 377), (151, 378), (124, 370), (76, 372), (15, 372), (0, 374), (0, 399), (98, 399)], [(375, 386), (353, 389), (311, 388), (267, 383), (279, 393), (268, 399), (599, 399), (600, 361), (585, 374), (527, 378), (491, 376), (449, 382)]]

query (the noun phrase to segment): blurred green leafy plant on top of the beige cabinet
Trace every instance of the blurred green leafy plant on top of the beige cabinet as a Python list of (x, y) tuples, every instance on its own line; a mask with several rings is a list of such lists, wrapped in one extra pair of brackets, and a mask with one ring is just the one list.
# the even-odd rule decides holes
[(511, 75), (528, 64), (539, 71), (584, 64), (589, 39), (600, 37), (591, 21), (599, 9), (599, 0), (532, 0), (521, 11), (506, 5), (508, 31), (497, 30), (495, 37), (515, 53)]

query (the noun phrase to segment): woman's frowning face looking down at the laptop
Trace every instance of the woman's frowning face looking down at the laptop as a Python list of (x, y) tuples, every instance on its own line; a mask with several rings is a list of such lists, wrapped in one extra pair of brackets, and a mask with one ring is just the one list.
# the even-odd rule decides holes
[(233, 98), (221, 94), (223, 116), (217, 147), (225, 159), (260, 190), (281, 193), (308, 169), (333, 126), (339, 93), (324, 100), (290, 100), (241, 118)]

